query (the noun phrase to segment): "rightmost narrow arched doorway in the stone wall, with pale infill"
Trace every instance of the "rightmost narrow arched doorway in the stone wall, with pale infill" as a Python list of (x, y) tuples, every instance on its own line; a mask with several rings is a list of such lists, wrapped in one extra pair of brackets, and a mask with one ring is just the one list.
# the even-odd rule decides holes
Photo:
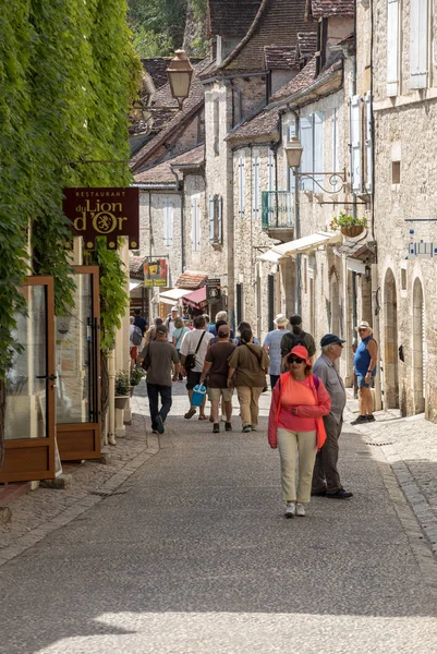
[(425, 411), (425, 319), (422, 282), (416, 277), (413, 287), (413, 398), (414, 413)]

